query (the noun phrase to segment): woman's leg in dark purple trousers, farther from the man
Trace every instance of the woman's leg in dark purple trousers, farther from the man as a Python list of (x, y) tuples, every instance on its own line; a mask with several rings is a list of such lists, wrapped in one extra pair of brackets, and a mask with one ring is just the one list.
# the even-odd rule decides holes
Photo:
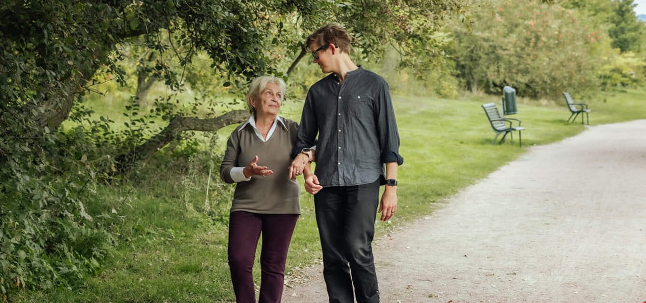
[(238, 303), (255, 303), (253, 260), (260, 237), (260, 216), (234, 211), (229, 218), (229, 269)]

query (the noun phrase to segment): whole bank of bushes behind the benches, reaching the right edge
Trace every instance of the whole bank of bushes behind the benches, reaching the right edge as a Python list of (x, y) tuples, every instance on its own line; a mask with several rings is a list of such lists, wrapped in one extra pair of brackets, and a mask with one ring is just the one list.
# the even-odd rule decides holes
[[(550, 98), (566, 90), (643, 83), (643, 53), (620, 55), (620, 49), (613, 48), (619, 38), (611, 39), (608, 28), (616, 28), (612, 23), (618, 16), (602, 9), (610, 3), (475, 3), (472, 23), (452, 23), (453, 44), (448, 49), (466, 89), (499, 94), (510, 85), (521, 96)], [(630, 17), (636, 19), (623, 16)], [(633, 27), (639, 36), (646, 26)]]

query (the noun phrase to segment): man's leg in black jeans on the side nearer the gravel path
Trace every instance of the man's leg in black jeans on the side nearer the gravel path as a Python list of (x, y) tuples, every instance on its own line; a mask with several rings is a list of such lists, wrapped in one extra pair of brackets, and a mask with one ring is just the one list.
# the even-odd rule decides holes
[(348, 261), (359, 303), (379, 302), (377, 273), (372, 255), (375, 217), (379, 205), (379, 180), (348, 187), (346, 242)]

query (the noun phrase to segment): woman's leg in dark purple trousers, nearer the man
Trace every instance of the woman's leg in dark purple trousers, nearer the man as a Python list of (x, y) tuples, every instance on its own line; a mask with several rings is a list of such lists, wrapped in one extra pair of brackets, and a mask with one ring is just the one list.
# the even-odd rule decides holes
[(280, 303), (285, 279), (285, 261), (298, 214), (262, 214), (259, 303)]

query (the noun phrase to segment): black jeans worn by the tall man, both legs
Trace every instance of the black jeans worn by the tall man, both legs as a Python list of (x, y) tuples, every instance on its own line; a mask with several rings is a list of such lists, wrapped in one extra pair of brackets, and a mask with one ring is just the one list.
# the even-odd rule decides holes
[(324, 187), (314, 196), (329, 302), (379, 302), (372, 255), (379, 180), (357, 186)]

